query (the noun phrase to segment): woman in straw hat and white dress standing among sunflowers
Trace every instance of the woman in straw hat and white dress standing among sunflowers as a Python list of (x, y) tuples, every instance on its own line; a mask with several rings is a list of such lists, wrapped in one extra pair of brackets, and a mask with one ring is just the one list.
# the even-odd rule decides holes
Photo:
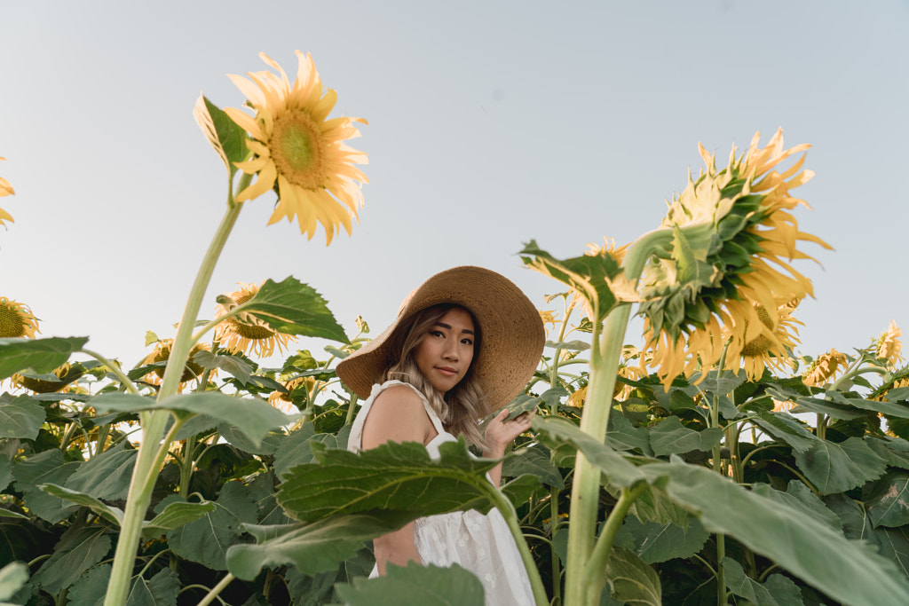
[[(342, 381), (365, 398), (351, 430), (352, 451), (385, 442), (439, 444), (464, 435), (484, 457), (500, 459), (530, 428), (528, 415), (505, 421), (543, 353), (534, 304), (502, 275), (481, 267), (436, 273), (402, 303), (395, 323), (338, 363)], [(498, 486), (502, 465), (488, 472)], [(501, 513), (452, 512), (411, 522), (374, 542), (376, 568), (388, 562), (458, 564), (483, 583), (487, 605), (534, 603), (527, 572)]]

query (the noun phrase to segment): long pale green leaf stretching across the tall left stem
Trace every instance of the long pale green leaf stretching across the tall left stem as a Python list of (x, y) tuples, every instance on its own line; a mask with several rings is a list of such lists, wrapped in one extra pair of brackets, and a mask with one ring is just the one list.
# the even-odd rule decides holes
[(151, 410), (205, 414), (218, 422), (227, 422), (242, 432), (255, 446), (262, 444), (271, 430), (294, 422), (287, 415), (255, 398), (235, 398), (220, 392), (195, 392), (173, 395), (158, 402), (130, 393), (103, 393), (92, 400), (98, 412), (140, 412)]

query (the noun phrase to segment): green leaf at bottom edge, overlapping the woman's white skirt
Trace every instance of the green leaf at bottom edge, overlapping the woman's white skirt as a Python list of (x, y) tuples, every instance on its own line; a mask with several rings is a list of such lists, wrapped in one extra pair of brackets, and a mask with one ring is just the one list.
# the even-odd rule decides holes
[(388, 574), (376, 579), (354, 579), (338, 585), (338, 595), (348, 606), (483, 606), (483, 585), (473, 574), (454, 564), (451, 568), (389, 566)]

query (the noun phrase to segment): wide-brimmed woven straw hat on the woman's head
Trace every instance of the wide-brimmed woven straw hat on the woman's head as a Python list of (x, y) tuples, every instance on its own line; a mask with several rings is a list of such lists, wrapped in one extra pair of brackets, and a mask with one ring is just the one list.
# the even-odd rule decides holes
[(389, 337), (415, 313), (440, 303), (455, 303), (474, 316), (480, 350), (471, 371), (486, 396), (485, 412), (502, 408), (524, 390), (543, 353), (545, 333), (534, 303), (499, 273), (483, 267), (453, 267), (420, 284), (407, 295), (397, 319), (385, 332), (337, 365), (337, 374), (361, 398), (397, 360)]

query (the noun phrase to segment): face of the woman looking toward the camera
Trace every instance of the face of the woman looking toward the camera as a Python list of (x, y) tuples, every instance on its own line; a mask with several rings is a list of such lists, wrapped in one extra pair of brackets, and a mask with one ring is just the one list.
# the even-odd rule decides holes
[(458, 384), (474, 360), (474, 320), (461, 307), (448, 310), (414, 348), (414, 361), (443, 395)]

